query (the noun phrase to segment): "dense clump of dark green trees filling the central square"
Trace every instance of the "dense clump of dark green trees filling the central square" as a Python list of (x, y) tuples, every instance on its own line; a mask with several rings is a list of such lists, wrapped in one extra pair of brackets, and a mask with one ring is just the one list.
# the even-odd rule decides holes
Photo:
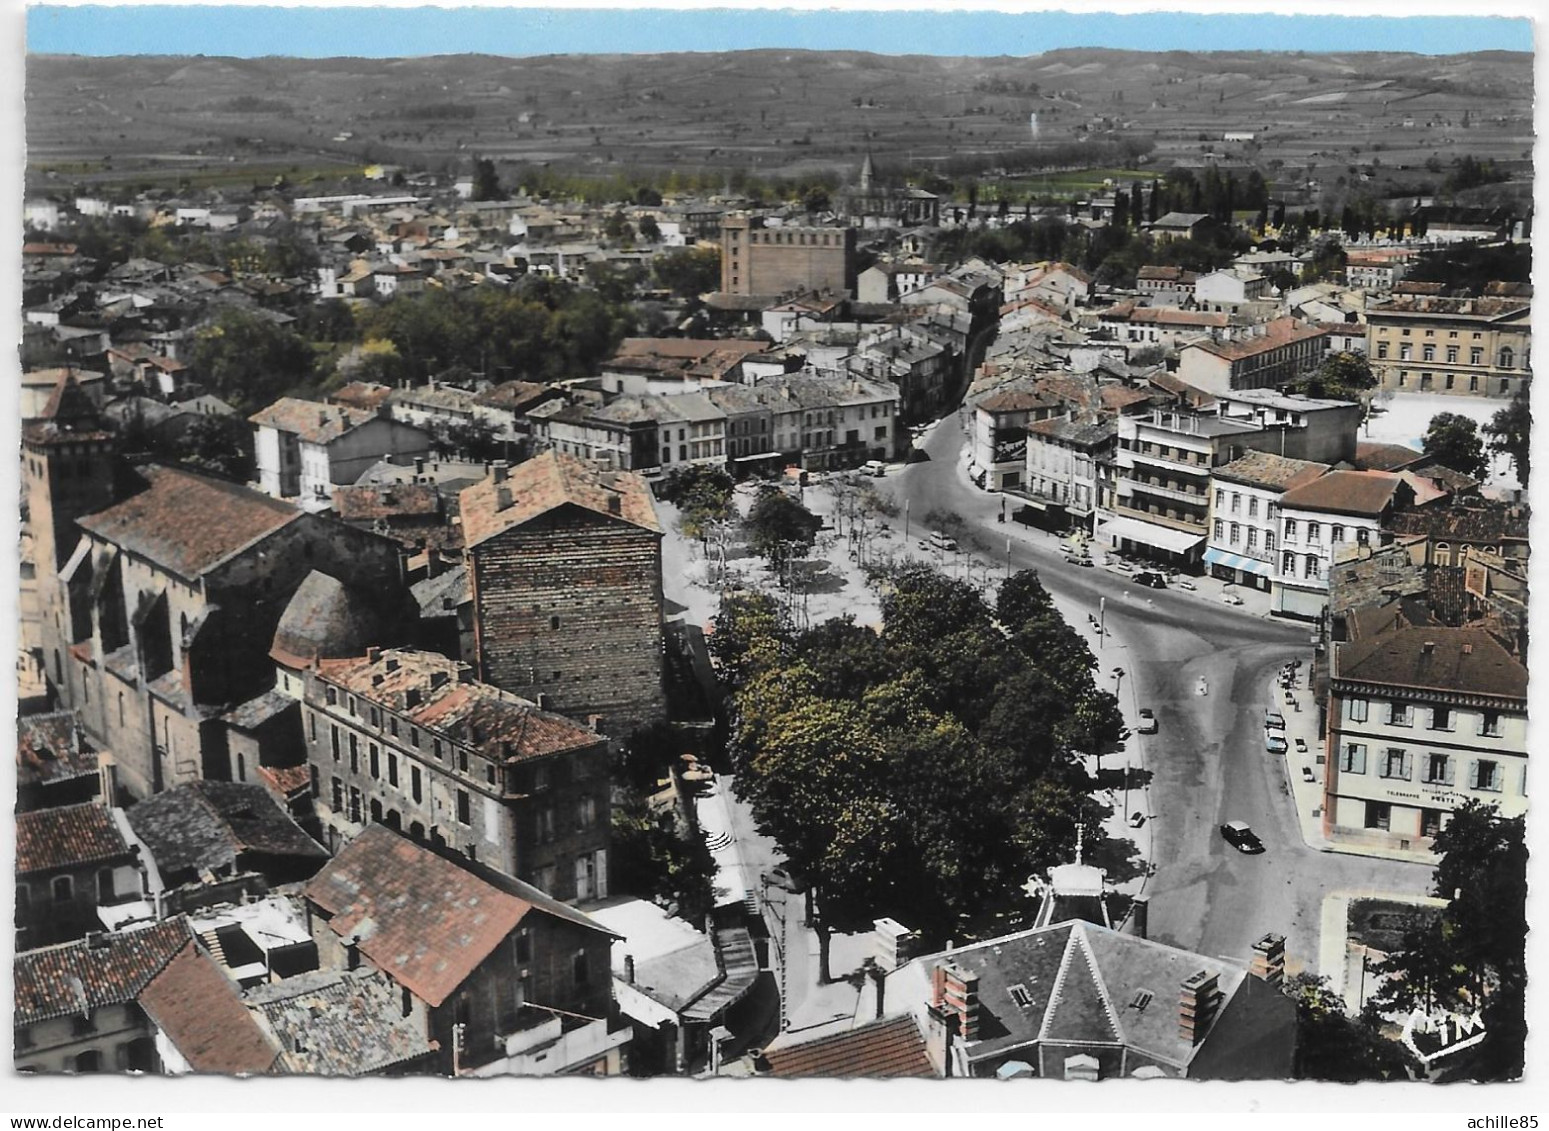
[(892, 916), (929, 944), (994, 934), (1029, 875), (1098, 841), (1083, 753), (1126, 737), (1095, 660), (1035, 572), (994, 607), (934, 570), (898, 573), (875, 632), (793, 632), (764, 595), (722, 601), (737, 789), (815, 892), (827, 937)]

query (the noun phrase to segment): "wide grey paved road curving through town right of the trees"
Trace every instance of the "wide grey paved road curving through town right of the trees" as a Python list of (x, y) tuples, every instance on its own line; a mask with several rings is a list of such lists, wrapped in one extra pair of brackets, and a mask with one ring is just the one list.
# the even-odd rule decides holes
[[(908, 499), (914, 536), (940, 508), (960, 514), (1005, 562), (1001, 499), (971, 486), (957, 468), (963, 432), (942, 421), (923, 442), (929, 462), (880, 480), (880, 490)], [(1430, 869), (1310, 849), (1286, 796), (1284, 759), (1262, 744), (1266, 685), (1275, 668), (1310, 655), (1307, 629), (1214, 604), (1182, 590), (1152, 592), (1103, 569), (1063, 561), (1052, 536), (1011, 542), (1013, 569), (1035, 567), (1044, 586), (1097, 612), (1114, 634), (1100, 655), (1120, 694), (1156, 710), (1159, 733), (1146, 739), (1157, 874), (1149, 886), (1149, 936), (1205, 954), (1247, 957), (1266, 931), (1287, 936), (1295, 968), (1315, 968), (1323, 897), (1332, 891), (1414, 891)], [(1197, 694), (1199, 680), (1207, 694)], [(1218, 826), (1242, 820), (1266, 852), (1245, 857), (1225, 844)]]

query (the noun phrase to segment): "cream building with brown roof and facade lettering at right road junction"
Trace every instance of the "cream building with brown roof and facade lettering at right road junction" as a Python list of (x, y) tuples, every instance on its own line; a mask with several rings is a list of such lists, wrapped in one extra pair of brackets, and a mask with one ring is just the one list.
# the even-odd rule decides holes
[(1334, 841), (1424, 851), (1467, 799), (1521, 816), (1527, 669), (1476, 627), (1399, 623), (1334, 645), (1323, 793)]

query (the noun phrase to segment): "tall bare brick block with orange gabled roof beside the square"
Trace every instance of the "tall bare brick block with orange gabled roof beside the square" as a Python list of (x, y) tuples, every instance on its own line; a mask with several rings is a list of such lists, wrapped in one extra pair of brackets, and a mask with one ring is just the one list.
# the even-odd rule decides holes
[(661, 522), (644, 480), (544, 452), (460, 500), (477, 677), (613, 736), (661, 719)]

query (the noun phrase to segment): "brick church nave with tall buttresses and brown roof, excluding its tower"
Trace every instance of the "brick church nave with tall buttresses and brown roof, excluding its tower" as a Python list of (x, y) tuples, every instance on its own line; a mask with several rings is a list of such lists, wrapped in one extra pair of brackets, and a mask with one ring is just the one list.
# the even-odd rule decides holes
[(222, 716), (274, 683), (270, 641), (311, 570), (384, 600), (403, 587), (387, 538), (235, 483), (149, 466), (146, 486), (79, 521), (60, 572), (64, 649), (48, 666), (135, 798), (231, 781)]

